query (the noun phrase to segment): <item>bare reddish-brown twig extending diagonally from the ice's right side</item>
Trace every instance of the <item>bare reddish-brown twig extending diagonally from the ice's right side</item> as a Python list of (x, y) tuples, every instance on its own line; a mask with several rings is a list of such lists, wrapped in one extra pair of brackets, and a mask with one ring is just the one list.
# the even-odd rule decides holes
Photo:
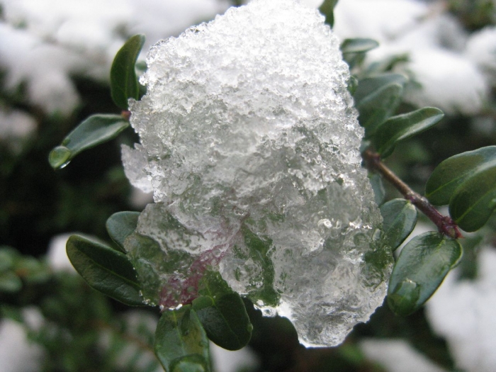
[(434, 225), (437, 226), (439, 232), (442, 234), (452, 237), (452, 238), (461, 238), (460, 230), (458, 229), (458, 225), (451, 219), (451, 217), (446, 215), (441, 215), (441, 213), (434, 208), (434, 206), (429, 203), (427, 198), (413, 191), (410, 186), (405, 184), (405, 182), (401, 181), (396, 174), (393, 173), (385, 164), (381, 161), (381, 156), (376, 152), (371, 150), (365, 150), (362, 154), (363, 159), (366, 162), (368, 169), (371, 171), (376, 171), (378, 174), (381, 174), (383, 178), (387, 179), (390, 184), (395, 186), (395, 188), (402, 193), (402, 196), (410, 201), (413, 205), (415, 205), (424, 215), (427, 215), (429, 220), (434, 222)]

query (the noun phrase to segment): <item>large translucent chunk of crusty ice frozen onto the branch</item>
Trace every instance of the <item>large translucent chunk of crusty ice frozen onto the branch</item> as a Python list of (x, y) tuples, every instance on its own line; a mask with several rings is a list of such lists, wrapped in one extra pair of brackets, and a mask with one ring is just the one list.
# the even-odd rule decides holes
[(176, 308), (219, 271), (305, 346), (383, 303), (392, 256), (359, 147), (349, 70), (324, 17), (254, 0), (162, 40), (130, 102), (131, 183), (153, 190), (125, 242), (142, 295)]

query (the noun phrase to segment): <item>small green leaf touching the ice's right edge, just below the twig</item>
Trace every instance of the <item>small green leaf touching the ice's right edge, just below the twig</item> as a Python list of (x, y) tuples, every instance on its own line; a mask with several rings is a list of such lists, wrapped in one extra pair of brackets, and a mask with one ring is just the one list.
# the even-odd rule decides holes
[(381, 215), (383, 215), (383, 244), (394, 252), (417, 224), (417, 208), (405, 199), (393, 199), (381, 205)]

